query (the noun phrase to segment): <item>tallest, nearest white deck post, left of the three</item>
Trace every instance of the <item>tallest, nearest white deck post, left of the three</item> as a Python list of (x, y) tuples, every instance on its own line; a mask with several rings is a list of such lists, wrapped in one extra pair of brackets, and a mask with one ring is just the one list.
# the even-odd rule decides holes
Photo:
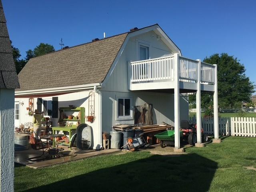
[(180, 62), (174, 54), (174, 146), (180, 148)]

